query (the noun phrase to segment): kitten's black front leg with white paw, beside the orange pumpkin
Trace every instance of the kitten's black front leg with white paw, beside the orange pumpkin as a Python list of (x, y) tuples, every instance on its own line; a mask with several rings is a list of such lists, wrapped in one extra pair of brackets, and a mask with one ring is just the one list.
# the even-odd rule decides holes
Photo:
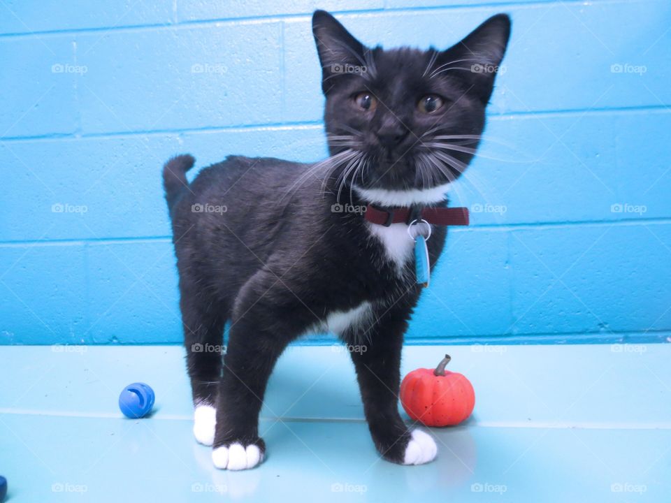
[(373, 326), (352, 333), (349, 342), (363, 411), (377, 451), (391, 462), (421, 465), (438, 453), (435, 441), (426, 432), (409, 430), (398, 413), (401, 348), (409, 314), (409, 309), (392, 308)]

